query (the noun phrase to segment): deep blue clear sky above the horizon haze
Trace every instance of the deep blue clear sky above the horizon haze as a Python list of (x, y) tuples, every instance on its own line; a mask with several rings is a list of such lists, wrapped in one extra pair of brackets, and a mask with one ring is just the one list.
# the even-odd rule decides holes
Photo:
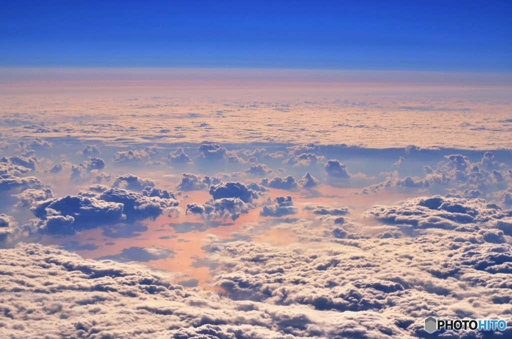
[(0, 2), (2, 67), (512, 71), (512, 1)]

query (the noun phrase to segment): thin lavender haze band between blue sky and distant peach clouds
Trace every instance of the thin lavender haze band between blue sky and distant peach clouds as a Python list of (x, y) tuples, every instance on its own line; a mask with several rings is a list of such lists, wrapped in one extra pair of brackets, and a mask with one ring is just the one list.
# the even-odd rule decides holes
[(21, 82), (315, 82), (512, 86), (512, 72), (198, 67), (2, 67), (0, 83)]

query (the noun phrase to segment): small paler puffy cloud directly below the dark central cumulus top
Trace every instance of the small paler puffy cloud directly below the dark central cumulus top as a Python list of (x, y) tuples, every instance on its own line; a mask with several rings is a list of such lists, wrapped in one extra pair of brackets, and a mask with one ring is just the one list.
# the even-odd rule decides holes
[(210, 199), (204, 204), (187, 204), (186, 213), (196, 214), (206, 220), (232, 219), (236, 220), (241, 214), (249, 213), (252, 205), (243, 202), (240, 198)]

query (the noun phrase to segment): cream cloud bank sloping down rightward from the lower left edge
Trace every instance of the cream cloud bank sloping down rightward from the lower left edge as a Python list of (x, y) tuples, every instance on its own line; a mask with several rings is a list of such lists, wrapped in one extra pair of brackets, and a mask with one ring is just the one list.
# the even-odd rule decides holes
[(411, 333), (403, 328), (411, 317), (395, 319), (396, 313), (237, 301), (215, 291), (183, 290), (163, 271), (85, 260), (37, 244), (0, 249), (0, 270), (10, 272), (0, 276), (8, 318), (0, 327), (3, 337), (298, 339)]

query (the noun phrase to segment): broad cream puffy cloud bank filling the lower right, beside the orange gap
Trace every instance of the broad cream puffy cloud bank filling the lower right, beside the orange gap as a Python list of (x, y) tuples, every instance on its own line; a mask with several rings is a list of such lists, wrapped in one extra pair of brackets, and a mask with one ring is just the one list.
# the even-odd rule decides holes
[(212, 245), (210, 259), (219, 265), (217, 285), (236, 300), (307, 305), (325, 317), (334, 312), (338, 319), (353, 316), (353, 323), (344, 319), (337, 329), (326, 320), (317, 336), (424, 336), (423, 319), (432, 314), (507, 319), (512, 247), (498, 229), (418, 229), (411, 237), (389, 229), (359, 237), (346, 217), (321, 216), (316, 222), (320, 224), (298, 220), (278, 226), (309, 235), (307, 246), (250, 241)]

